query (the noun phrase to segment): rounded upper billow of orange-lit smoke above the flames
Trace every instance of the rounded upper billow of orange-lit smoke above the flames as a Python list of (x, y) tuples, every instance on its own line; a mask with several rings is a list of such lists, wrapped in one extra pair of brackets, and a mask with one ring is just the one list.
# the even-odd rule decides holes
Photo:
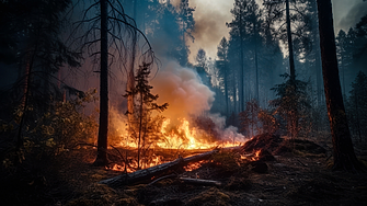
[(215, 93), (202, 83), (196, 71), (174, 61), (163, 66), (151, 84), (152, 93), (159, 94), (158, 103), (170, 104), (163, 115), (172, 119), (203, 114), (210, 110), (215, 100)]

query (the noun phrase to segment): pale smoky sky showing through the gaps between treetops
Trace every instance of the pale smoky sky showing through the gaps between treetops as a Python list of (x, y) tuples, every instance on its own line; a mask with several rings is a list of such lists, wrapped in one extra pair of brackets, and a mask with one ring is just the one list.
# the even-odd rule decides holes
[[(257, 0), (261, 4), (262, 0)], [(217, 45), (223, 36), (228, 36), (226, 22), (232, 20), (230, 10), (234, 0), (191, 0), (190, 5), (195, 8), (196, 21), (195, 42), (190, 42), (190, 61), (194, 62), (197, 50), (204, 48), (207, 56), (215, 58)], [(174, 1), (173, 1), (174, 3)], [(363, 0), (332, 0), (335, 33), (347, 31), (367, 13), (367, 1)]]

